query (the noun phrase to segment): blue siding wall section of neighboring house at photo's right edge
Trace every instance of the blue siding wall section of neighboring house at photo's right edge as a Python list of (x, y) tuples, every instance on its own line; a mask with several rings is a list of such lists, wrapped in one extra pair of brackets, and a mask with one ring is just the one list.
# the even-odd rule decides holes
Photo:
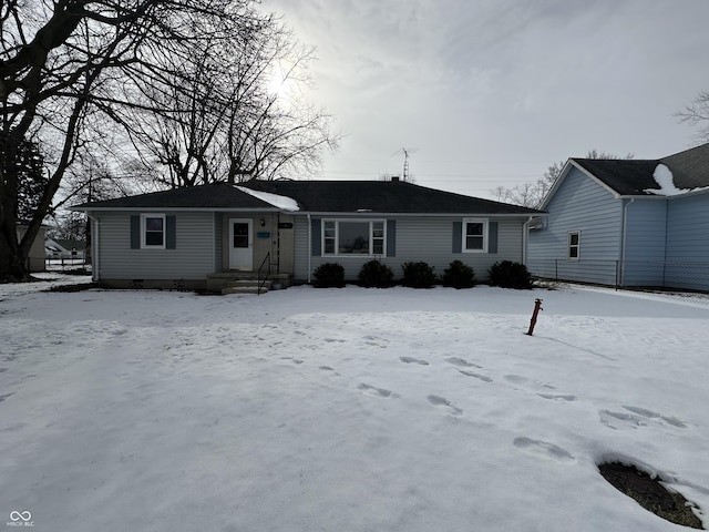
[(709, 290), (709, 194), (670, 200), (666, 286)]

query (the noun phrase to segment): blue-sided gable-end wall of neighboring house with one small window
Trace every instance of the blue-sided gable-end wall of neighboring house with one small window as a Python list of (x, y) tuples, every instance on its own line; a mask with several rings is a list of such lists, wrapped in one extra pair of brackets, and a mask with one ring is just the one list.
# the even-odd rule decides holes
[[(527, 268), (541, 277), (613, 285), (620, 258), (623, 202), (572, 168), (546, 206), (546, 227), (530, 232)], [(568, 260), (568, 233), (580, 233), (579, 259)]]

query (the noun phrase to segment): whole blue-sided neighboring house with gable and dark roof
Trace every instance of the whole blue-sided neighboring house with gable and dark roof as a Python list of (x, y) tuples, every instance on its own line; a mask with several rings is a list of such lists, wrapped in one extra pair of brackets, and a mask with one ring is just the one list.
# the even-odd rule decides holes
[(533, 225), (536, 276), (709, 290), (709, 144), (658, 160), (569, 158)]

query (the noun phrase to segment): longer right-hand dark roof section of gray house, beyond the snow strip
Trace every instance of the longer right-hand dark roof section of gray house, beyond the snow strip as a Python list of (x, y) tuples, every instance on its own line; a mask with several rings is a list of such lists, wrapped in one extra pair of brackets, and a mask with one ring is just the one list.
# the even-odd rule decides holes
[(311, 213), (538, 214), (540, 211), (391, 181), (251, 181)]

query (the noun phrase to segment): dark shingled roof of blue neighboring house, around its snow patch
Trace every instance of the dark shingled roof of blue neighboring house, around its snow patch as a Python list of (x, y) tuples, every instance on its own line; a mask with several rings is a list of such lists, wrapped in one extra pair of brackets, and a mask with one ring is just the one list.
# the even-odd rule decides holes
[(657, 160), (572, 158), (576, 164), (623, 196), (651, 196), (659, 185), (653, 177), (658, 164), (672, 173), (677, 188), (709, 186), (709, 143)]

